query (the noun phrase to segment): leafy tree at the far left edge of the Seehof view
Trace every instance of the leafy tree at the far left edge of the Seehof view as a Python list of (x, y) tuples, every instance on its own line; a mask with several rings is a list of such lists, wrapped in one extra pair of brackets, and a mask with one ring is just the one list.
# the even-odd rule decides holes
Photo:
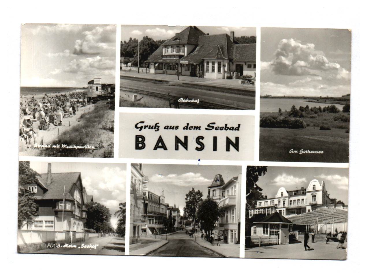
[(18, 229), (26, 223), (27, 229), (33, 223), (33, 217), (38, 216), (34, 194), (23, 187), (38, 181), (39, 173), (29, 167), (29, 161), (19, 161), (18, 173)]

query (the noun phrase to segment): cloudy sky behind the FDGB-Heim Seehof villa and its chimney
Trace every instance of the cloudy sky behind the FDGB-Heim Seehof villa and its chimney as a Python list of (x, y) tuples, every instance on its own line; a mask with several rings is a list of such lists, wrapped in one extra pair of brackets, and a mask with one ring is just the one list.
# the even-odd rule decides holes
[[(30, 162), (30, 168), (38, 173), (47, 173), (48, 162)], [(126, 202), (126, 164), (52, 162), (51, 172), (80, 172), (83, 187), (93, 201), (110, 209), (111, 223), (116, 228), (115, 212), (119, 203)]]

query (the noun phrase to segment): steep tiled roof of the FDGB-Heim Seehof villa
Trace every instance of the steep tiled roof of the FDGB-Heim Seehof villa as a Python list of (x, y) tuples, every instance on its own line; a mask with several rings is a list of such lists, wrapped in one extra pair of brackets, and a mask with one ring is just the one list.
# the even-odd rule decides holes
[(52, 173), (51, 184), (47, 184), (47, 173), (40, 174), (40, 181), (48, 188), (48, 191), (42, 197), (36, 197), (37, 200), (63, 199), (65, 186), (65, 199), (73, 200), (70, 195), (70, 189), (77, 182), (80, 172)]

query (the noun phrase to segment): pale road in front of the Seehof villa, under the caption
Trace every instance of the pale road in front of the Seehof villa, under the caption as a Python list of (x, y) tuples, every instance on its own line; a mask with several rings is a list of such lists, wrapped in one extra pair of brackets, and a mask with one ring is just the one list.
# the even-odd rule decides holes
[(124, 255), (125, 245), (121, 238), (106, 236), (102, 238), (90, 238), (87, 242), (73, 244), (60, 244), (59, 248), (48, 248), (37, 251), (40, 254), (82, 254), (82, 255)]

